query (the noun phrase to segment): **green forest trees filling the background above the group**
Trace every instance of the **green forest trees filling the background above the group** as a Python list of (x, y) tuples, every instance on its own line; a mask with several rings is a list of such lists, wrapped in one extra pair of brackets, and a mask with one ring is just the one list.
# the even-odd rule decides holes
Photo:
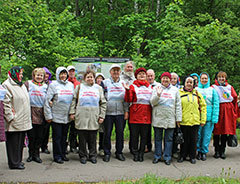
[(225, 71), (240, 90), (239, 0), (1, 0), (2, 76), (15, 65), (68, 66), (77, 57), (129, 57), (179, 76)]

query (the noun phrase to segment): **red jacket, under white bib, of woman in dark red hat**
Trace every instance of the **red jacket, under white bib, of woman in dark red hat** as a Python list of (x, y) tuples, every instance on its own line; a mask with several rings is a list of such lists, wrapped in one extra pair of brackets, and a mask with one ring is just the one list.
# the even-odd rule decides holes
[[(135, 85), (131, 85), (129, 90), (126, 90), (125, 101), (129, 103), (137, 102), (137, 95), (135, 87), (140, 86), (149, 87), (150, 84), (147, 81), (135, 80)], [(149, 104), (135, 104), (133, 103), (129, 108), (129, 123), (151, 124), (152, 120), (152, 107)]]

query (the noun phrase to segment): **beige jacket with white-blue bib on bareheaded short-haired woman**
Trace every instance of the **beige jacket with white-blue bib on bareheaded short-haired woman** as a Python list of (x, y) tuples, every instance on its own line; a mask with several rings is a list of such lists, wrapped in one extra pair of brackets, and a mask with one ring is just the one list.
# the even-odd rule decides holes
[[(92, 103), (93, 101), (91, 101), (91, 98), (89, 98), (88, 100), (84, 98), (87, 94), (97, 94), (99, 100), (96, 101), (96, 103), (94, 104)], [(98, 130), (98, 119), (99, 117), (105, 119), (106, 107), (107, 102), (103, 95), (102, 87), (97, 84), (89, 86), (83, 82), (78, 85), (74, 91), (74, 96), (69, 114), (75, 114), (76, 129)]]

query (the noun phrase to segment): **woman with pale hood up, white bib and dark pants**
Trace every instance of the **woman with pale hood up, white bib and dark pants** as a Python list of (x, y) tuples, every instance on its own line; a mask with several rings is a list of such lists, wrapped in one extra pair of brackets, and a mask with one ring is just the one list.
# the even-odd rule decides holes
[(65, 67), (56, 70), (56, 81), (48, 88), (44, 105), (44, 115), (52, 123), (53, 158), (58, 164), (69, 161), (66, 157), (66, 140), (69, 127), (69, 110), (73, 99), (74, 86), (68, 79)]

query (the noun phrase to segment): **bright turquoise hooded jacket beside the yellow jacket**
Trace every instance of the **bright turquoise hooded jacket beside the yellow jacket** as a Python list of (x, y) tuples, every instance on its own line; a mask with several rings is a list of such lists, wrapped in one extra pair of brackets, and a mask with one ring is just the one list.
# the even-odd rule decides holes
[(218, 93), (214, 88), (210, 87), (210, 77), (208, 73), (203, 72), (200, 74), (200, 77), (202, 74), (206, 74), (208, 76), (208, 83), (203, 85), (199, 80), (197, 90), (202, 94), (207, 104), (207, 121), (217, 123), (219, 117)]

